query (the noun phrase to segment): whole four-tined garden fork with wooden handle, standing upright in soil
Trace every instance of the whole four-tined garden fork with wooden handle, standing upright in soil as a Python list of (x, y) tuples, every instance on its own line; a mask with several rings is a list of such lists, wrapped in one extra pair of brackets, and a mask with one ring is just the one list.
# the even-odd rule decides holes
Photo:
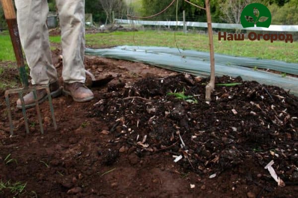
[(25, 69), (25, 64), (24, 64), (24, 58), (23, 58), (23, 53), (22, 53), (22, 48), (21, 48), (21, 42), (20, 42), (20, 37), (19, 37), (19, 32), (17, 28), (17, 22), (16, 22), (16, 14), (14, 11), (14, 6), (12, 3), (12, 0), (1, 0), (4, 15), (7, 21), (8, 29), (9, 29), (9, 34), (17, 62), (17, 67), (19, 69), (19, 74), (20, 74), (20, 79), (23, 84), (23, 88), (19, 89), (9, 89), (5, 91), (5, 101), (8, 109), (8, 119), (9, 119), (9, 125), (10, 125), (10, 134), (13, 135), (14, 127), (12, 124), (12, 117), (11, 117), (11, 109), (10, 109), (10, 104), (9, 104), (9, 94), (15, 94), (17, 93), (21, 103), (22, 103), (22, 113), (24, 117), (24, 122), (25, 122), (25, 129), (26, 133), (29, 133), (29, 126), (28, 126), (28, 118), (26, 116), (26, 109), (25, 109), (25, 102), (23, 98), (23, 94), (26, 92), (33, 91), (34, 99), (35, 99), (35, 104), (36, 104), (36, 111), (37, 111), (37, 117), (39, 121), (39, 126), (40, 126), (40, 131), (43, 134), (43, 125), (42, 125), (42, 119), (40, 115), (40, 109), (39, 109), (39, 104), (37, 100), (37, 94), (36, 90), (39, 89), (46, 89), (47, 94), (48, 94), (48, 99), (50, 103), (50, 109), (51, 109), (51, 115), (52, 115), (52, 120), (53, 120), (53, 125), (55, 130), (57, 129), (57, 124), (55, 120), (55, 115), (54, 115), (54, 108), (52, 104), (52, 98), (51, 98), (51, 93), (49, 89), (49, 85), (40, 85), (40, 86), (33, 86), (29, 87), (28, 83), (28, 77), (26, 74), (26, 69)]

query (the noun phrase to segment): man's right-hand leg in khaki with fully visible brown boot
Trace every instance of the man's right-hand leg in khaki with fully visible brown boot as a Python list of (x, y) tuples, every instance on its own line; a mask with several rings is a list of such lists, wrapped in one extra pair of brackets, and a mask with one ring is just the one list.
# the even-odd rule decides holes
[(56, 0), (62, 37), (64, 93), (74, 101), (93, 99), (85, 83), (85, 0)]

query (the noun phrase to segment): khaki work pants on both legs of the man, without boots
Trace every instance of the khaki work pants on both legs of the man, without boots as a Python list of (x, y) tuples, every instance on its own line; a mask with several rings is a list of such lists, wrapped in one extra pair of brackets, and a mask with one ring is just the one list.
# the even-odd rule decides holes
[[(56, 0), (59, 11), (64, 82), (85, 82), (85, 0)], [(52, 64), (47, 0), (15, 0), (17, 23), (32, 84), (48, 84), (58, 79)]]

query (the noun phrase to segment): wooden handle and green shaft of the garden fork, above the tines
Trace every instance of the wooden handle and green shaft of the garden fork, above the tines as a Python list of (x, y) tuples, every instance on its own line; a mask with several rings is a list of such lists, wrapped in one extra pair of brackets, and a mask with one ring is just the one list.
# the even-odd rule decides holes
[(16, 58), (16, 63), (19, 68), (20, 78), (23, 86), (26, 88), (28, 87), (28, 77), (27, 77), (25, 64), (24, 64), (24, 57), (23, 57), (21, 41), (19, 37), (19, 31), (17, 28), (14, 6), (12, 3), (12, 0), (1, 0), (1, 4), (7, 21), (9, 35), (12, 42), (15, 58)]

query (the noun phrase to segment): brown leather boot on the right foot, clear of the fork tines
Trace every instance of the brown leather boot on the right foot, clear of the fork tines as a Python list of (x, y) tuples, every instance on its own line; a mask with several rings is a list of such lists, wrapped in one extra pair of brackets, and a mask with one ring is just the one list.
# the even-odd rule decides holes
[(87, 102), (94, 98), (92, 91), (81, 82), (64, 83), (63, 93), (72, 96), (75, 102)]

